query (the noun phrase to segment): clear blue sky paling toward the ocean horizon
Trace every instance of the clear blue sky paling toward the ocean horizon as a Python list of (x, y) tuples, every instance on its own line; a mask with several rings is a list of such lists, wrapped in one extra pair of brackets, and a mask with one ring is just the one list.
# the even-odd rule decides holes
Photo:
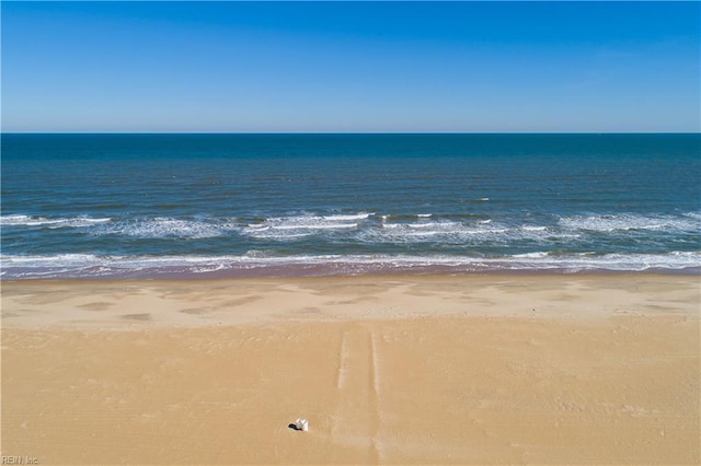
[(2, 1), (2, 130), (700, 130), (699, 2)]

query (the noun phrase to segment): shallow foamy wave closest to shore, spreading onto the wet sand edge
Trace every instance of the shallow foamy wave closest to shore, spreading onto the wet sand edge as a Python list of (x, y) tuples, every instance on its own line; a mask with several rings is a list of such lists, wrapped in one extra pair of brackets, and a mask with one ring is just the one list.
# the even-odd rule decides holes
[(372, 272), (681, 271), (701, 273), (701, 253), (512, 256), (296, 255), (241, 256), (0, 255), (2, 279), (157, 278), (193, 276), (358, 275)]

